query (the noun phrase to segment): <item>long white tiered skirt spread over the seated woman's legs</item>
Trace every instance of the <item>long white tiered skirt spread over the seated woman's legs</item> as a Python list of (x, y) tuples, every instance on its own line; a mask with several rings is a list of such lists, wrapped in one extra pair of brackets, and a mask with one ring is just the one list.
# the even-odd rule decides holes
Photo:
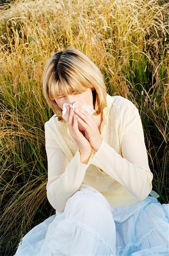
[(154, 197), (125, 207), (111, 207), (89, 185), (31, 229), (15, 256), (168, 256), (168, 204)]

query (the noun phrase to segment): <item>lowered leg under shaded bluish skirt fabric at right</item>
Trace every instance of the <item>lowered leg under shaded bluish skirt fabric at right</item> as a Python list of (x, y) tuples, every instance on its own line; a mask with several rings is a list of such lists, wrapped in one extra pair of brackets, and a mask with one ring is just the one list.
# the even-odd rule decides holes
[(112, 208), (116, 223), (116, 254), (168, 256), (168, 219), (162, 205), (149, 196), (126, 207)]

